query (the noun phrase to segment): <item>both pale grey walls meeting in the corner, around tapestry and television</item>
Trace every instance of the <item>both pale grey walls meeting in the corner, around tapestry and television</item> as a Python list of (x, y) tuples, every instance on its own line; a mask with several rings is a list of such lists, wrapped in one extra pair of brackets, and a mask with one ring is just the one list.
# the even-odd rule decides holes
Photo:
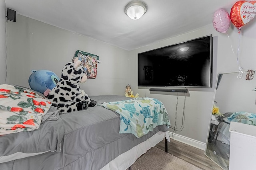
[[(212, 34), (214, 36), (213, 88), (188, 88), (184, 129), (180, 132), (174, 132), (185, 143), (190, 145), (198, 143), (204, 146), (195, 147), (204, 149), (214, 101), (216, 74), (238, 70), (235, 54), (239, 41), (240, 63), (245, 70), (255, 69), (255, 29), (255, 24), (244, 26), (239, 39), (236, 28), (231, 26), (228, 34), (218, 33), (210, 24), (133, 51), (125, 51), (118, 47), (17, 15), (16, 23), (7, 23), (7, 82), (9, 84), (28, 86), (28, 77), (32, 69), (52, 70), (60, 76), (64, 64), (68, 63), (75, 51), (79, 49), (98, 55), (102, 61), (101, 64), (98, 64), (97, 78), (89, 79), (85, 84), (82, 84), (81, 87), (86, 93), (89, 95), (124, 95), (125, 86), (130, 84), (134, 93), (140, 93), (140, 97), (147, 96), (161, 100), (169, 113), (171, 124), (174, 126), (177, 94), (150, 93), (148, 89), (138, 88), (137, 54)], [(185, 96), (179, 94), (177, 127), (182, 124), (184, 100)], [(172, 129), (169, 129), (169, 131), (173, 132)]]

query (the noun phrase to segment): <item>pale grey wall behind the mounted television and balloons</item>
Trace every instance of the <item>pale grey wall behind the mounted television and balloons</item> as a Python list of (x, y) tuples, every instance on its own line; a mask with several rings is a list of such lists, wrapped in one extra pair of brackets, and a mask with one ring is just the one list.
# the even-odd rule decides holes
[[(174, 126), (177, 93), (150, 92), (148, 90), (150, 87), (147, 87), (147, 90), (145, 90), (145, 88), (137, 88), (137, 55), (138, 53), (144, 51), (149, 51), (152, 49), (157, 49), (160, 47), (165, 47), (168, 45), (212, 34), (214, 37), (213, 88), (188, 88), (189, 93), (186, 94), (184, 129), (182, 131), (176, 131), (176, 134), (182, 135), (185, 138), (190, 138), (199, 143), (206, 143), (206, 140), (208, 138), (208, 127), (212, 111), (212, 104), (214, 101), (216, 74), (238, 71), (238, 64), (236, 62), (238, 45), (240, 45), (238, 55), (240, 65), (244, 68), (244, 70), (256, 68), (256, 48), (254, 47), (256, 45), (256, 35), (254, 33), (255, 29), (255, 23), (248, 23), (247, 25), (242, 27), (240, 35), (238, 34), (238, 30), (234, 26), (231, 26), (229, 28), (228, 33), (219, 33), (214, 29), (212, 24), (209, 24), (196, 30), (192, 30), (188, 33), (184, 33), (176, 37), (167, 38), (163, 41), (149, 44), (146, 47), (141, 47), (139, 49), (130, 51), (130, 85), (132, 85), (134, 92), (140, 93), (141, 97), (144, 97), (146, 95), (147, 97), (157, 98), (162, 101), (168, 111), (171, 125)], [(182, 109), (184, 106), (184, 100), (184, 95), (178, 97), (178, 113), (176, 121), (178, 128), (182, 125)], [(169, 129), (169, 131), (173, 132), (173, 129)]]

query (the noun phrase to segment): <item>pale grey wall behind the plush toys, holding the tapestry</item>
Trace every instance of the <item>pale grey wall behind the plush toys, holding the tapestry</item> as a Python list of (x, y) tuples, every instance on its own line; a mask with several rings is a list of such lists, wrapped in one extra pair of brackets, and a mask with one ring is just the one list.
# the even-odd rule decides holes
[(7, 23), (7, 82), (29, 87), (30, 70), (46, 69), (59, 77), (77, 50), (98, 55), (97, 78), (81, 88), (88, 95), (124, 95), (129, 84), (128, 51), (21, 15)]

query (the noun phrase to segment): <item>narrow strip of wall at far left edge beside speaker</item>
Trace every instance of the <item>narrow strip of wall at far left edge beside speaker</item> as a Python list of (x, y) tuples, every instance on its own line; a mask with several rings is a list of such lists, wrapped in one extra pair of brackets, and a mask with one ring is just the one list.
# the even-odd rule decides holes
[(6, 5), (4, 0), (0, 0), (0, 83), (6, 83)]

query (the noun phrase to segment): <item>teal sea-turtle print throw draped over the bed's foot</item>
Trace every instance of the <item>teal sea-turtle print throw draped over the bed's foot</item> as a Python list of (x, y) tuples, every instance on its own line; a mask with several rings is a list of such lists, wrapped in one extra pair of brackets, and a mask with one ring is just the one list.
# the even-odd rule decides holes
[(118, 102), (98, 104), (120, 114), (119, 133), (132, 133), (142, 137), (158, 125), (170, 125), (164, 104), (154, 98), (132, 98)]

